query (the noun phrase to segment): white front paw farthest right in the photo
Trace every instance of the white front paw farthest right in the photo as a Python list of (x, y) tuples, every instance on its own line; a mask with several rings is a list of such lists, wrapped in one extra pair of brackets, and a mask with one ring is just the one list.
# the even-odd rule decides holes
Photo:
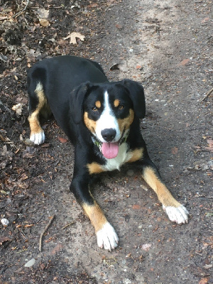
[(173, 206), (165, 207), (163, 205), (163, 210), (165, 211), (166, 214), (168, 214), (168, 217), (172, 222), (176, 222), (178, 224), (188, 222), (189, 212), (182, 205), (178, 207), (173, 207)]

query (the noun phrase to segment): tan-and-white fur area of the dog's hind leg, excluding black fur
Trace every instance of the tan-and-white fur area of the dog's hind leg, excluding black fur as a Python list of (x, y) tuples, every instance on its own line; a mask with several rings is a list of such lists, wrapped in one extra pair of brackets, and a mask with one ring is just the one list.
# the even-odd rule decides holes
[(33, 141), (35, 144), (39, 145), (45, 141), (45, 134), (43, 132), (43, 129), (40, 127), (39, 123), (39, 114), (40, 111), (47, 105), (47, 99), (45, 98), (44, 92), (43, 92), (43, 86), (41, 83), (38, 83), (35, 89), (35, 93), (38, 97), (38, 106), (33, 111), (29, 117), (28, 121), (31, 128), (31, 141)]

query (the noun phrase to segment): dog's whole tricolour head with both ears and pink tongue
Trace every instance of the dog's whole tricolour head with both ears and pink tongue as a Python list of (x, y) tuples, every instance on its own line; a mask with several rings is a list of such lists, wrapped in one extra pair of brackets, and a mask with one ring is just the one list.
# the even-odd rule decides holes
[(75, 123), (84, 121), (108, 159), (118, 154), (134, 117), (142, 119), (146, 111), (143, 87), (131, 80), (84, 83), (71, 95), (70, 104)]

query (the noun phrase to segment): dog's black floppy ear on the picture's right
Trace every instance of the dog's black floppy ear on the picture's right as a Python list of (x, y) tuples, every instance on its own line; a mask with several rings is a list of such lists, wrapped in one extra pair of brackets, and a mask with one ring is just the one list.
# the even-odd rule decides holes
[(143, 86), (138, 82), (124, 79), (121, 81), (124, 87), (129, 91), (129, 97), (133, 102), (133, 110), (139, 119), (143, 119), (146, 114), (146, 103), (143, 92)]

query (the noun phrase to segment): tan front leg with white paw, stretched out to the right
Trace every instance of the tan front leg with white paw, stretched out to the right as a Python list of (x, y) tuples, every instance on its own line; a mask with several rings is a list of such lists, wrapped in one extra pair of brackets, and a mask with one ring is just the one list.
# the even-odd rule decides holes
[(158, 200), (163, 204), (163, 210), (168, 214), (169, 219), (178, 224), (187, 223), (189, 212), (175, 200), (167, 187), (155, 175), (152, 168), (147, 167), (144, 169), (143, 179), (156, 192)]

